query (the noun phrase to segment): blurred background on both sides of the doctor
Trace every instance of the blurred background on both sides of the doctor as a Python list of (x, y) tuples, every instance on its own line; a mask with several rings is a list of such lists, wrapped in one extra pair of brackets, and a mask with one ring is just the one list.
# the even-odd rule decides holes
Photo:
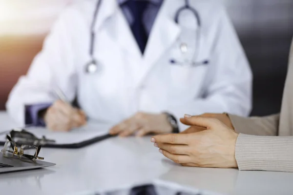
[[(0, 110), (5, 108), (13, 85), (42, 48), (50, 25), (70, 1), (0, 2), (0, 11), (6, 6), (6, 15), (0, 12)], [(222, 1), (251, 63), (254, 76), (251, 115), (279, 112), (293, 38), (293, 0)], [(9, 18), (8, 14), (14, 12), (18, 18)]]

